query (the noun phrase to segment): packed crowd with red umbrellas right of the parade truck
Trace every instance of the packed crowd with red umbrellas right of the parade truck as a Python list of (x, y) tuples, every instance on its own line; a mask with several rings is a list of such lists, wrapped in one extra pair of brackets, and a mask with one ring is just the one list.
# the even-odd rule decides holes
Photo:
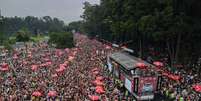
[[(201, 101), (201, 74), (199, 62), (194, 66), (174, 65), (168, 67), (167, 55), (157, 55), (163, 62), (161, 74), (163, 75), (160, 94), (170, 101)], [(155, 56), (156, 57), (156, 56)], [(152, 60), (149, 59), (148, 60)], [(154, 61), (154, 60), (153, 60)], [(176, 78), (170, 78), (170, 75)]]

